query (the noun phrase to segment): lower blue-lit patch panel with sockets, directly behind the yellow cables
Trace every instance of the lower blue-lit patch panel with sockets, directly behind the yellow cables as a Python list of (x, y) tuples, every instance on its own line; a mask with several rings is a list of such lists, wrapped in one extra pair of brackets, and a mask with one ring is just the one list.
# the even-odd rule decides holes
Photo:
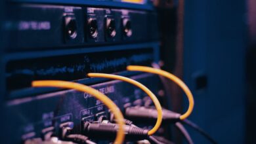
[[(142, 82), (154, 93), (161, 89), (160, 79), (157, 76), (141, 74), (131, 78)], [(136, 106), (137, 103), (133, 101), (147, 97), (135, 86), (120, 81), (103, 82), (92, 87), (101, 90), (115, 101), (121, 111), (124, 110), (125, 103), (132, 103), (130, 106)], [(141, 104), (144, 105), (144, 102), (141, 101)], [(72, 132), (81, 134), (83, 122), (98, 120), (102, 116), (110, 118), (108, 109), (100, 101), (83, 92), (75, 92), (75, 90), (61, 90), (35, 98), (13, 99), (7, 105), (5, 109), (7, 113), (4, 113), (3, 117), (8, 118), (13, 124), (3, 124), (3, 126), (9, 127), (12, 137), (20, 137), (23, 141), (38, 137), (43, 139), (49, 132), (61, 135), (61, 128), (64, 125), (72, 125)], [(19, 109), (20, 116), (15, 115), (15, 109)], [(16, 133), (12, 133), (13, 131)], [(9, 132), (5, 135), (10, 135)], [(4, 139), (4, 141), (20, 143), (20, 139)]]

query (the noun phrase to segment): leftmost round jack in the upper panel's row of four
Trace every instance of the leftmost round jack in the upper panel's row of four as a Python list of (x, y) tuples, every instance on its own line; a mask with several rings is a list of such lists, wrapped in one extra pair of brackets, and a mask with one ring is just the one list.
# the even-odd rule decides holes
[(65, 34), (67, 39), (75, 39), (77, 37), (77, 24), (74, 16), (65, 17)]

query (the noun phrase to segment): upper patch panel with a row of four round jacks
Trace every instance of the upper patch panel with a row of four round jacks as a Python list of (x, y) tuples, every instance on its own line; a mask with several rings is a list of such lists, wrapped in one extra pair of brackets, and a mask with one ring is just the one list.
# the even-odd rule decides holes
[(157, 31), (157, 21), (151, 20), (154, 12), (62, 5), (10, 7), (5, 26), (16, 43), (9, 43), (6, 51), (158, 40), (152, 36)]

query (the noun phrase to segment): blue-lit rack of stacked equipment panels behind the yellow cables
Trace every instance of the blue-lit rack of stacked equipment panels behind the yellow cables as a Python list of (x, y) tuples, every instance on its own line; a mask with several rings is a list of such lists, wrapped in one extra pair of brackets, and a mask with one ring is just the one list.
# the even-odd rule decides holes
[[(150, 101), (136, 86), (89, 78), (87, 73), (131, 77), (163, 94), (158, 76), (126, 71), (127, 65), (159, 61), (158, 16), (150, 1), (11, 0), (6, 7), (1, 143), (43, 141), (49, 134), (61, 139), (65, 124), (81, 134), (84, 121), (110, 117), (102, 102), (87, 93), (32, 88), (35, 80), (87, 84), (121, 110)], [(169, 128), (161, 132), (166, 135)]]

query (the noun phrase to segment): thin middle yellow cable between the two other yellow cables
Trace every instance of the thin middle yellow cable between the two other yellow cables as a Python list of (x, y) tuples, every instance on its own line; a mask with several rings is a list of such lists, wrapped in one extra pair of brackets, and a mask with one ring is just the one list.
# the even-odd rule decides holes
[(111, 74), (104, 74), (104, 73), (88, 73), (87, 74), (89, 77), (100, 77), (100, 78), (107, 78), (107, 79), (117, 79), (120, 81), (125, 81), (125, 82), (129, 82), (135, 86), (138, 86), (140, 89), (142, 89), (144, 92), (146, 92), (146, 94), (148, 94), (148, 96), (152, 99), (152, 101), (154, 102), (154, 105), (156, 106), (156, 110), (158, 111), (158, 119), (156, 120), (156, 124), (155, 126), (148, 131), (148, 135), (152, 135), (154, 134), (161, 126), (161, 121), (162, 121), (162, 111), (161, 111), (161, 104), (158, 101), (158, 98), (156, 98), (156, 96), (143, 84), (140, 84), (140, 82), (137, 82), (133, 79), (129, 79), (127, 77), (122, 77), (119, 75), (111, 75)]

